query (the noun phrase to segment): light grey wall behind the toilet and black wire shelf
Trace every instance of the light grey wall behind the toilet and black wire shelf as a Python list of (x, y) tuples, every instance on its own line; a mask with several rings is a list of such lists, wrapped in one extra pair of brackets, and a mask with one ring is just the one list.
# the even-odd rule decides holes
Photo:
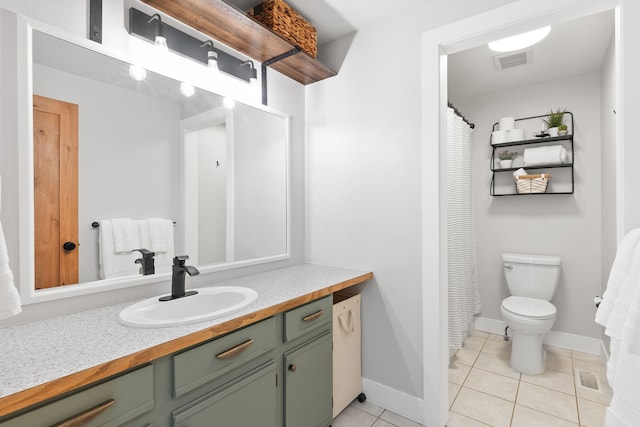
[[(449, 83), (455, 85), (455, 81)], [(600, 73), (456, 99), (454, 104), (476, 125), (473, 176), (480, 316), (502, 320), (500, 303), (509, 295), (502, 253), (557, 255), (562, 258), (562, 270), (552, 300), (558, 310), (553, 330), (600, 338), (601, 328), (593, 322), (593, 297), (601, 291), (602, 213), (607, 212), (601, 202), (601, 177), (614, 174), (614, 170), (602, 171), (601, 164)], [(574, 194), (490, 196), (493, 124), (500, 117), (531, 117), (558, 107), (574, 114)], [(551, 182), (567, 178), (556, 169), (548, 172)]]

